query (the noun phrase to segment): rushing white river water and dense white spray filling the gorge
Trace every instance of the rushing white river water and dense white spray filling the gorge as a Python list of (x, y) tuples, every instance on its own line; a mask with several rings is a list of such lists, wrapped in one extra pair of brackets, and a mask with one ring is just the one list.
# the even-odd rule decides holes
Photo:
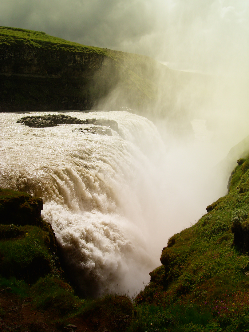
[(166, 147), (154, 124), (128, 112), (63, 112), (115, 120), (112, 136), (77, 130), (89, 124), (16, 122), (47, 114), (0, 113), (0, 187), (42, 197), (42, 217), (82, 293), (141, 290), (168, 238), (225, 195), (229, 173), (222, 180), (212, 171), (224, 149), (205, 120), (193, 120), (194, 132), (181, 141), (158, 123)]

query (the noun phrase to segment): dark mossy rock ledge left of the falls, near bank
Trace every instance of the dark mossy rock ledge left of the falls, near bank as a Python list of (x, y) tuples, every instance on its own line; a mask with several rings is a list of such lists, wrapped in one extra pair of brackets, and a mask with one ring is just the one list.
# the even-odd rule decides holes
[(47, 252), (56, 254), (57, 245), (51, 225), (41, 218), (42, 206), (41, 198), (0, 189), (0, 241), (6, 241), (9, 251), (7, 255), (1, 247), (1, 276), (32, 284), (51, 271)]

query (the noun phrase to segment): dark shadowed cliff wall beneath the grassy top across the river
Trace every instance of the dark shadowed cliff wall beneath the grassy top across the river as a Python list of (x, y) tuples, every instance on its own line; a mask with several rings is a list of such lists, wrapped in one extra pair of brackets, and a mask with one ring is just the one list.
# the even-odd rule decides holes
[(119, 80), (97, 52), (6, 43), (0, 54), (0, 111), (90, 110)]

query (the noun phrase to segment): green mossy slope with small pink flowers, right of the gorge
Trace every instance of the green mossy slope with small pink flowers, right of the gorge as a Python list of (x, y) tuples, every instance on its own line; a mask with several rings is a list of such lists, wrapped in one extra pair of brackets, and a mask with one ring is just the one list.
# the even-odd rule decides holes
[(238, 160), (228, 194), (207, 211), (168, 240), (162, 265), (150, 273), (150, 284), (137, 296), (142, 306), (181, 313), (162, 331), (249, 329), (249, 159)]

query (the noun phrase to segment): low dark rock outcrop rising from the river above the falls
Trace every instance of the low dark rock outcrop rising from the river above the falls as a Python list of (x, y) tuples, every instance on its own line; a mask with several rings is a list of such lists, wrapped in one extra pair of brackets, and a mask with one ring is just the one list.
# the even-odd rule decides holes
[[(54, 127), (58, 124), (95, 124), (99, 126), (110, 127), (111, 129), (118, 132), (119, 127), (118, 123), (114, 120), (97, 120), (97, 119), (87, 119), (87, 120), (80, 120), (77, 118), (72, 118), (69, 115), (59, 114), (59, 115), (44, 115), (44, 116), (34, 116), (34, 117), (24, 117), (22, 119), (17, 120), (17, 123), (27, 125), (29, 127), (35, 128), (42, 128), (42, 127)], [(96, 130), (94, 127), (93, 131)], [(78, 129), (78, 130), (85, 130), (85, 129)], [(99, 130), (100, 131), (100, 130)], [(95, 132), (94, 132), (95, 133)], [(96, 133), (99, 133), (96, 130)], [(104, 135), (111, 136), (109, 131), (102, 133)]]

